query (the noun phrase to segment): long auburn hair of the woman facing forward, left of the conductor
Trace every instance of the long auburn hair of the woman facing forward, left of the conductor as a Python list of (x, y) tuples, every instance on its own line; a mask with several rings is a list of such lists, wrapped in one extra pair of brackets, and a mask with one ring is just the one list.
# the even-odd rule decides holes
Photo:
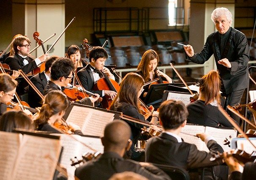
[(158, 63), (159, 61), (158, 54), (155, 52), (155, 50), (150, 49), (143, 54), (142, 60), (139, 62), (137, 70), (142, 71), (142, 77), (145, 80), (145, 82), (150, 81), (148, 66), (150, 64), (150, 61), (153, 59), (157, 59), (157, 63)]

